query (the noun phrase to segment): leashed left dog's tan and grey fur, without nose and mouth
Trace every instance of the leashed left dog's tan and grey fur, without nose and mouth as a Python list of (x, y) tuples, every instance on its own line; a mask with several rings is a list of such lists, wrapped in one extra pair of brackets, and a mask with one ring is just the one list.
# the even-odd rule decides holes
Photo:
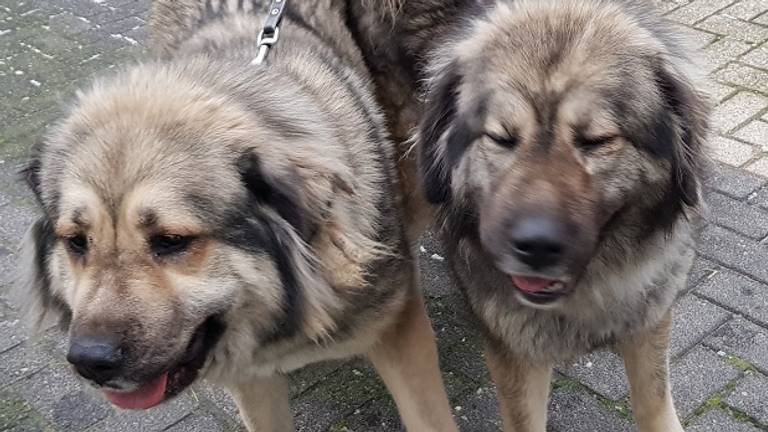
[[(249, 430), (292, 429), (285, 373), (353, 355), (372, 360), (409, 430), (455, 430), (401, 155), (340, 10), (291, 9), (259, 67), (263, 14), (205, 3), (156, 1), (164, 59), (97, 81), (37, 150), (25, 173), (44, 215), (22, 295), (72, 339), (120, 338), (130, 361), (101, 383), (113, 390), (172, 366), (215, 322), (201, 373)], [(158, 252), (168, 236), (191, 240)]]

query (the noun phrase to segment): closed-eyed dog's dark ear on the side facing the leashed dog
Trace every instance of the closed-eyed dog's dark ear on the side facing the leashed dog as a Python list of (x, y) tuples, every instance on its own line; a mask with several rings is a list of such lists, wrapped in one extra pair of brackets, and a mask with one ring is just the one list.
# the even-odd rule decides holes
[(466, 128), (457, 124), (460, 85), (456, 62), (437, 73), (427, 89), (424, 117), (416, 134), (422, 181), (432, 203), (450, 199), (453, 164), (469, 145)]

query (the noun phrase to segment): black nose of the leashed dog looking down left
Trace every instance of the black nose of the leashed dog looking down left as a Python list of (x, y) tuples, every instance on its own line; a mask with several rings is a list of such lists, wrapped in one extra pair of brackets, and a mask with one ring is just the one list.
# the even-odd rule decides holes
[(67, 361), (77, 373), (98, 384), (120, 375), (123, 360), (119, 341), (107, 337), (73, 338), (67, 353)]

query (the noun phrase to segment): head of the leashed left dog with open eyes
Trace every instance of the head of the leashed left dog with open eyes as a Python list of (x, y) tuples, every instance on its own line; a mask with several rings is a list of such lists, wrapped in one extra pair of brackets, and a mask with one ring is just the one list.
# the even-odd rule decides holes
[(291, 164), (318, 137), (264, 99), (258, 121), (140, 67), (81, 95), (24, 170), (44, 215), (24, 240), (22, 294), (61, 319), (68, 361), (121, 407), (173, 396), (238, 341), (328, 322), (306, 249), (315, 200)]

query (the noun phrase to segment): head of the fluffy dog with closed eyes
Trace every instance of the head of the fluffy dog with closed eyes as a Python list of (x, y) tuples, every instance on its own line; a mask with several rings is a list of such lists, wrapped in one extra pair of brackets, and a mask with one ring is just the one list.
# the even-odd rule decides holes
[(518, 297), (552, 307), (617, 230), (697, 205), (708, 108), (646, 12), (509, 3), (437, 56), (416, 141), (428, 198), (473, 214)]

